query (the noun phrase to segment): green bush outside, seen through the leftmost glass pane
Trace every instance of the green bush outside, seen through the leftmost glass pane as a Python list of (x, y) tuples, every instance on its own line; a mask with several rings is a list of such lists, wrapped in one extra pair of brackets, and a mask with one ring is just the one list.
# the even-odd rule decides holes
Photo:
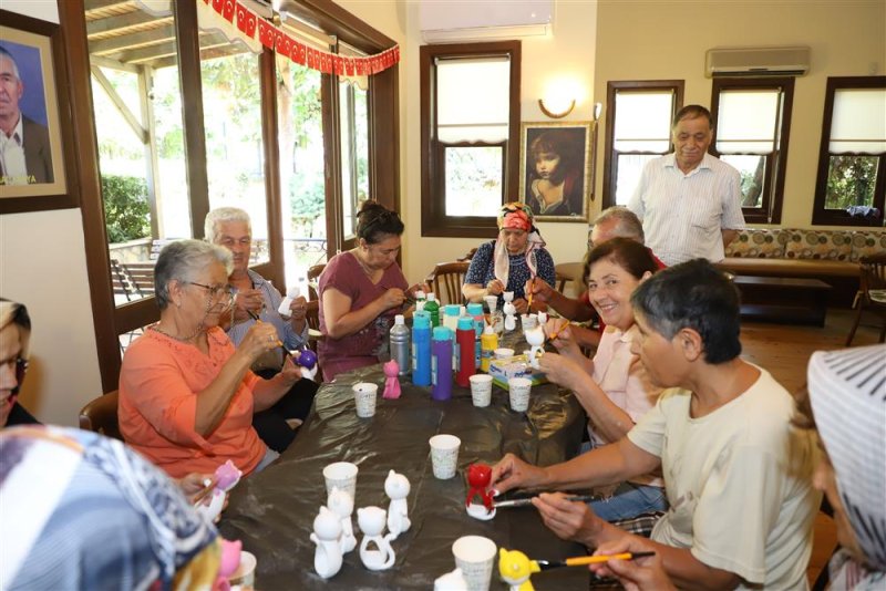
[(102, 200), (109, 242), (151, 236), (147, 183), (134, 176), (102, 176)]

